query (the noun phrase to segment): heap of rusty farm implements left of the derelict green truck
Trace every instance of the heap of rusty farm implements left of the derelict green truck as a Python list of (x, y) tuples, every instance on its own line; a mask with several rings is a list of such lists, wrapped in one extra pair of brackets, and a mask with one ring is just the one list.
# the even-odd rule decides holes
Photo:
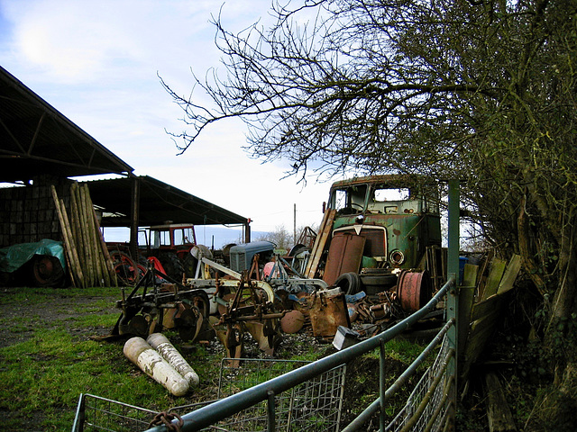
[[(344, 294), (328, 290), (320, 279), (299, 277), (283, 257), (274, 256), (273, 247), (266, 241), (232, 247), (232, 268), (213, 261), (206, 247), (195, 247), (197, 277), (185, 284), (150, 263), (131, 293), (123, 288), (112, 335), (146, 338), (174, 329), (183, 341), (193, 342), (214, 332), (227, 356), (235, 358), (242, 355), (244, 333), (272, 355), (282, 332), (296, 333), (309, 322), (316, 334), (330, 336), (348, 324)], [(334, 322), (327, 326), (329, 321)]]

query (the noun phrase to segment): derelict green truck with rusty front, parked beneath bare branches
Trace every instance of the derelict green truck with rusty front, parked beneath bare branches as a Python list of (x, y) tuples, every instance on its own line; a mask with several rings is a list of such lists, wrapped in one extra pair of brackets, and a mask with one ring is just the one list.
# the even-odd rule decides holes
[(404, 310), (418, 310), (444, 280), (439, 202), (438, 185), (420, 176), (334, 183), (315, 275), (345, 293), (390, 293)]

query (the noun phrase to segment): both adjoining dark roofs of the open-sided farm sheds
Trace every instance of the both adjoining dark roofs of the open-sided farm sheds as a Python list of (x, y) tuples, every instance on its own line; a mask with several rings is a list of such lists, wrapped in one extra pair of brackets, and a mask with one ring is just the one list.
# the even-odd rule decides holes
[(115, 213), (106, 227), (131, 226), (133, 178), (140, 183), (139, 226), (171, 223), (238, 224), (247, 220), (133, 168), (81, 130), (26, 85), (0, 67), (0, 183), (24, 183), (39, 175), (78, 177), (121, 174), (88, 181), (92, 201)]

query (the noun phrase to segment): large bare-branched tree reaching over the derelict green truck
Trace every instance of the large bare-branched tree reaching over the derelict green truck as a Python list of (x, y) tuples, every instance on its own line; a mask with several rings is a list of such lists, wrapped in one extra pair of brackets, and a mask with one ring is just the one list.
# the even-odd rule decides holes
[[(577, 4), (305, 0), (239, 33), (185, 112), (181, 151), (238, 117), (254, 157), (305, 180), (349, 169), (460, 178), (463, 201), (542, 296), (558, 388), (577, 377)], [(565, 385), (565, 387), (563, 387)]]

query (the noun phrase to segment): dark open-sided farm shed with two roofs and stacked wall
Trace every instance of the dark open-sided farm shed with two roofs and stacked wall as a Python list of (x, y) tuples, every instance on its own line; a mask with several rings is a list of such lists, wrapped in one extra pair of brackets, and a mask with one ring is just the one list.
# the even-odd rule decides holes
[[(0, 67), (0, 247), (60, 239), (50, 185), (60, 197), (70, 177), (121, 175), (87, 182), (92, 201), (106, 213), (104, 226), (131, 228), (135, 247), (139, 226), (175, 223), (244, 224), (248, 220), (133, 167)], [(248, 237), (248, 236), (247, 236)]]

